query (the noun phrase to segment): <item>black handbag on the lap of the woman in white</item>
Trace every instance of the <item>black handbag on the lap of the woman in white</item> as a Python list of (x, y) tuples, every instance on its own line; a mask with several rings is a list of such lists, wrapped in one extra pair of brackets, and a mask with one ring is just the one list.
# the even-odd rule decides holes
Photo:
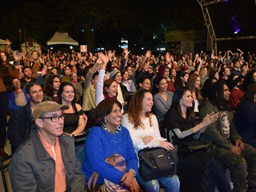
[(146, 180), (172, 177), (177, 170), (177, 150), (166, 150), (162, 147), (145, 148), (138, 151), (138, 173)]

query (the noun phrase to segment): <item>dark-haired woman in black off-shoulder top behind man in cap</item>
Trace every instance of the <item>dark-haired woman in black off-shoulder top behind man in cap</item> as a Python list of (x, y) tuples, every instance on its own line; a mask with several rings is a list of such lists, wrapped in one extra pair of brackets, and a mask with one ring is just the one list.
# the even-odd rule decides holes
[(58, 103), (69, 106), (63, 110), (65, 114), (63, 131), (66, 134), (77, 136), (85, 129), (87, 118), (83, 114), (82, 106), (75, 102), (74, 86), (71, 82), (62, 82), (58, 90)]

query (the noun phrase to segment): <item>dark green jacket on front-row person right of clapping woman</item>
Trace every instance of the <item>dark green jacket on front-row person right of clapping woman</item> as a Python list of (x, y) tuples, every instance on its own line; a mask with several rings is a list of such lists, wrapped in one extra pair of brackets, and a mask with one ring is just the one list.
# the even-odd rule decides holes
[[(218, 113), (218, 108), (208, 100), (202, 102), (202, 104), (199, 106), (199, 122), (202, 122), (202, 119), (205, 118), (207, 114), (212, 112)], [(227, 150), (231, 150), (235, 141), (238, 139), (242, 140), (234, 126), (232, 112), (226, 111), (226, 113), (227, 119), (230, 123), (230, 138), (224, 138), (221, 134), (222, 128), (220, 124), (220, 114), (218, 114), (218, 120), (210, 124), (210, 126), (207, 127), (205, 133), (202, 134), (202, 139), (207, 142), (211, 142), (213, 144), (213, 149), (214, 147), (223, 147)]]

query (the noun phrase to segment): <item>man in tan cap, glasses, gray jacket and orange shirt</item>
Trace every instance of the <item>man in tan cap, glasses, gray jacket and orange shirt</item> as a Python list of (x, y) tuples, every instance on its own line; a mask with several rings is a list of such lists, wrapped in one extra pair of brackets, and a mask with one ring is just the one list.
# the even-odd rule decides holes
[(13, 191), (84, 191), (84, 174), (74, 138), (63, 134), (68, 106), (40, 102), (34, 108), (37, 130), (18, 147), (10, 162)]

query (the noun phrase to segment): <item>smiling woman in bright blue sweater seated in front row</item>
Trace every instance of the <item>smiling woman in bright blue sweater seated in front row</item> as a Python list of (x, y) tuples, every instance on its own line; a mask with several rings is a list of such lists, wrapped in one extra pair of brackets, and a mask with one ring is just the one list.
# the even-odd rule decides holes
[[(122, 105), (114, 98), (106, 98), (99, 102), (94, 111), (94, 127), (86, 138), (86, 158), (82, 164), (82, 172), (86, 174), (86, 186), (91, 175), (96, 171), (99, 175), (97, 185), (104, 179), (137, 192), (138, 182), (134, 178), (138, 174), (138, 159), (134, 152), (129, 131), (121, 125)], [(125, 158), (125, 173), (110, 166), (106, 162), (112, 154)]]

